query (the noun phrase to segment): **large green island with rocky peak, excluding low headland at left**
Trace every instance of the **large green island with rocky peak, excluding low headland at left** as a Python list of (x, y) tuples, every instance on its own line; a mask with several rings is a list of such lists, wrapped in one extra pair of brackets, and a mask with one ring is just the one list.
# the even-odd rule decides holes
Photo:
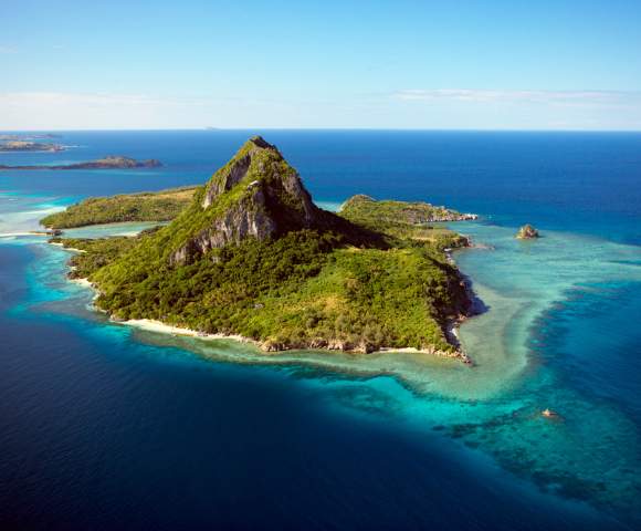
[(115, 321), (264, 352), (412, 350), (470, 363), (452, 330), (472, 294), (446, 253), (469, 239), (424, 222), (434, 216), (469, 219), (366, 196), (325, 211), (280, 150), (252, 137), (170, 223), (52, 242), (85, 251), (70, 274), (91, 282)]

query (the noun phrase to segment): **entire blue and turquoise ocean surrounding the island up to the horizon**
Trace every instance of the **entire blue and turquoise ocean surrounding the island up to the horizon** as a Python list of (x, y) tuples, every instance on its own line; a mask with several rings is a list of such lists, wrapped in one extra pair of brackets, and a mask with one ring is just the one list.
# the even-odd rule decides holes
[[(477, 244), (454, 257), (486, 310), (460, 330), (476, 366), (109, 323), (29, 235), (83, 197), (201, 184), (255, 133), (325, 208), (481, 215), (451, 223)], [(641, 134), (62, 135), (0, 164), (166, 166), (0, 173), (1, 529), (641, 529)]]

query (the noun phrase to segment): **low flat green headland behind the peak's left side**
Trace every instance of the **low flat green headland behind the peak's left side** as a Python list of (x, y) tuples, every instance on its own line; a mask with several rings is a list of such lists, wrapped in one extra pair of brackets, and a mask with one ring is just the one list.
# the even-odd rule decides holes
[(169, 221), (191, 204), (196, 187), (155, 192), (94, 197), (52, 214), (40, 223), (56, 229), (122, 221)]

